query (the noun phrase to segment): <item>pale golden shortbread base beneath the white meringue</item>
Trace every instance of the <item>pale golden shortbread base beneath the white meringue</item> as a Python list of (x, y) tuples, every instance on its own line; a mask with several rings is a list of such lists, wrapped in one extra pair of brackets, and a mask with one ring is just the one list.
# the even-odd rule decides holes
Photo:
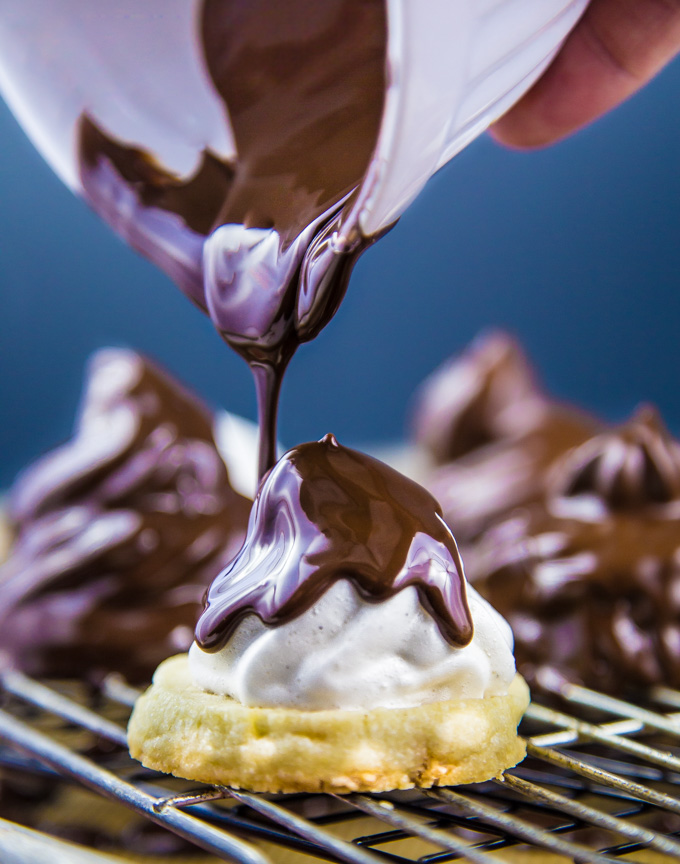
[(371, 711), (247, 708), (196, 687), (186, 655), (156, 670), (128, 727), (147, 768), (254, 792), (384, 792), (475, 783), (524, 758), (529, 690)]

